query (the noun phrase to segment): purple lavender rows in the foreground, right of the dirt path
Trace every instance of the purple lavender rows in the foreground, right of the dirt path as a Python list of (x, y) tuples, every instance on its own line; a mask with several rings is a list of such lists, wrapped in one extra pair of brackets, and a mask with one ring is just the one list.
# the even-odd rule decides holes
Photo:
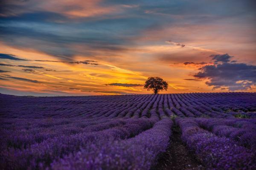
[(177, 118), (175, 122), (183, 142), (207, 169), (256, 169), (256, 119)]

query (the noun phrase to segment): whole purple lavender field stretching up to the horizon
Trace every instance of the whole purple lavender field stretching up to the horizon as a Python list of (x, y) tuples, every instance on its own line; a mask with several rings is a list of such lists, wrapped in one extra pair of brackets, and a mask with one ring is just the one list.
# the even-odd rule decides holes
[(0, 94), (0, 169), (170, 169), (177, 129), (201, 169), (256, 169), (256, 93)]

